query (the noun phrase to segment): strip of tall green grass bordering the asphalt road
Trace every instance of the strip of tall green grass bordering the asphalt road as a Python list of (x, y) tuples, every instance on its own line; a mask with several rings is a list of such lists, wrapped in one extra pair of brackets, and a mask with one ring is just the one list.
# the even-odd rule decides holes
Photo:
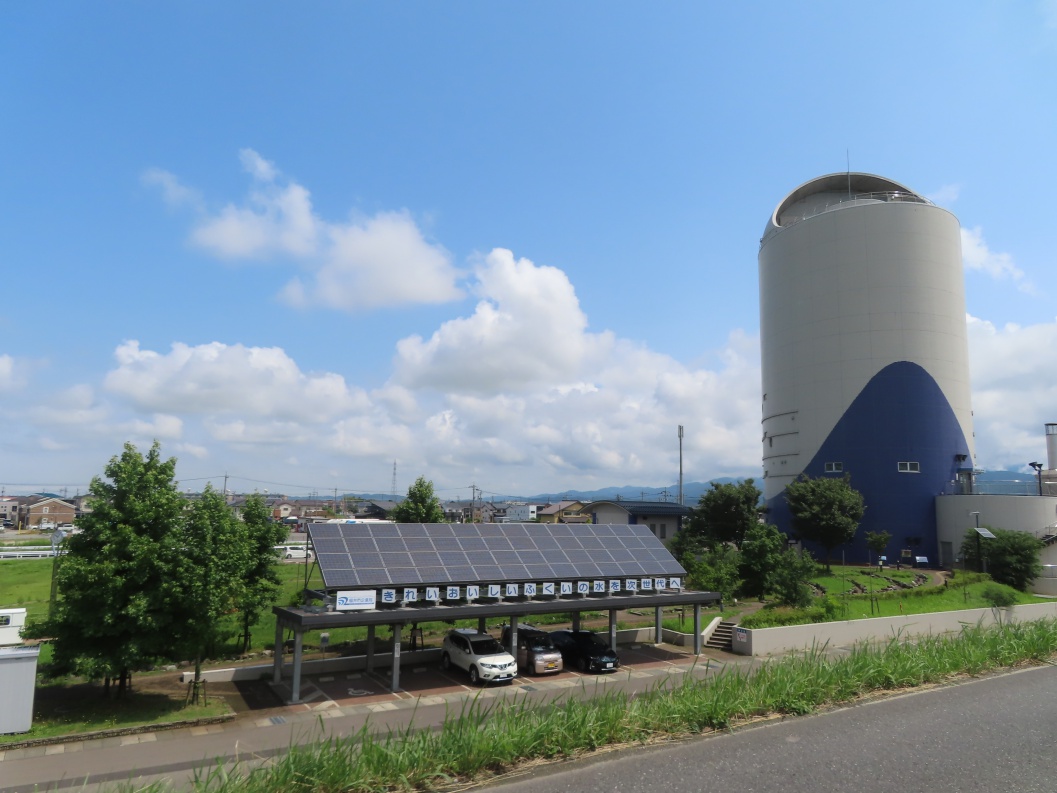
[[(613, 744), (724, 730), (771, 715), (800, 715), (877, 690), (938, 683), (960, 675), (1057, 653), (1057, 621), (966, 626), (958, 635), (893, 638), (830, 658), (826, 648), (703, 678), (683, 676), (646, 694), (607, 691), (550, 705), (527, 699), (467, 701), (439, 730), (407, 726), (294, 746), (263, 768), (218, 761), (193, 781), (197, 793), (433, 790), (534, 759), (570, 757)], [(148, 788), (154, 793), (163, 785)]]

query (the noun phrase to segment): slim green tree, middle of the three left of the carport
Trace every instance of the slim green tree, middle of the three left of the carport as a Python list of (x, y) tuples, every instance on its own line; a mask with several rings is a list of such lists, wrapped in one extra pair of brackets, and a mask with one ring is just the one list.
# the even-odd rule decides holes
[(183, 525), (184, 553), (178, 582), (181, 623), (179, 643), (194, 658), (192, 701), (202, 688), (202, 659), (212, 654), (246, 591), (249, 567), (246, 524), (236, 517), (226, 498), (207, 485), (191, 502)]

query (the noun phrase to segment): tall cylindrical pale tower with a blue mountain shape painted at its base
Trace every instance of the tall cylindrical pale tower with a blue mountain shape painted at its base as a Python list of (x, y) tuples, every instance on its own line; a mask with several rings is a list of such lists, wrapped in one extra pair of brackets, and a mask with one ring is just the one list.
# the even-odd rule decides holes
[(775, 208), (759, 269), (765, 498), (849, 474), (865, 528), (933, 548), (931, 499), (973, 461), (958, 219), (883, 177), (820, 177)]

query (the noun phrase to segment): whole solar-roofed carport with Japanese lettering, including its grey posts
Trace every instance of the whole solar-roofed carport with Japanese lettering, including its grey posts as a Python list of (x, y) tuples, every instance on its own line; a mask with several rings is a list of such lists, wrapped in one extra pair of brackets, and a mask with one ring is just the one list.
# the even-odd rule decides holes
[(313, 523), (309, 540), (323, 588), (308, 593), (321, 607), (275, 607), (274, 682), (282, 681), (282, 640), (294, 632), (291, 703), (300, 698), (303, 634), (367, 628), (366, 669), (374, 665), (379, 625), (393, 632), (391, 689), (400, 690), (404, 629), (424, 622), (508, 620), (512, 646), (525, 617), (583, 611), (609, 613), (616, 646), (616, 614), (654, 609), (661, 642), (666, 606), (693, 607), (693, 651), (701, 654), (701, 606), (716, 592), (682, 588), (686, 571), (642, 525), (553, 523)]

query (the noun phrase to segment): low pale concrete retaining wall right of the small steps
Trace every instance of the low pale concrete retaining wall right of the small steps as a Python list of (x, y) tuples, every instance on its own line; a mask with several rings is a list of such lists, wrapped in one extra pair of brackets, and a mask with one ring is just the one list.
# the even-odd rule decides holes
[(786, 628), (735, 628), (734, 651), (742, 656), (772, 656), (820, 645), (842, 647), (858, 642), (884, 641), (892, 637), (951, 633), (962, 630), (966, 625), (980, 623), (987, 626), (1000, 620), (1028, 622), (1043, 617), (1057, 617), (1057, 603), (848, 620)]

